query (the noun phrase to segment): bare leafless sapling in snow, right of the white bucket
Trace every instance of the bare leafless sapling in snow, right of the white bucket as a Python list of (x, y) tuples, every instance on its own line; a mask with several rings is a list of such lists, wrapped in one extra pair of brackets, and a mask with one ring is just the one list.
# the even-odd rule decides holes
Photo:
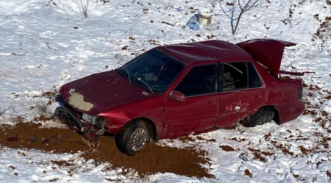
[[(227, 11), (223, 8), (221, 3), (222, 0), (218, 1), (220, 8), (222, 9), (222, 11), (224, 12), (224, 14), (230, 18), (230, 24), (231, 24), (231, 30), (232, 30), (232, 34), (236, 34), (238, 25), (239, 25), (239, 21), (240, 18), (242, 17), (242, 15), (246, 12), (251, 10), (253, 7), (255, 7), (257, 5), (257, 3), (259, 2), (259, 0), (248, 0), (248, 1), (242, 1), (242, 0), (233, 0), (232, 3), (228, 3), (227, 5), (231, 6), (231, 9), (229, 10), (229, 12), (227, 13)], [(237, 8), (239, 8), (240, 11), (238, 16), (236, 16), (235, 14), (237, 13)], [(236, 22), (234, 25), (234, 21)]]

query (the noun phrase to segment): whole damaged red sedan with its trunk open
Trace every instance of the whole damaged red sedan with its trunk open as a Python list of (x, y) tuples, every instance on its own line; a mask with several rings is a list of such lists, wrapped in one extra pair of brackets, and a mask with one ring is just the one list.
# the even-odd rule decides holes
[(284, 48), (294, 43), (256, 39), (158, 46), (112, 71), (60, 89), (56, 114), (95, 140), (115, 135), (132, 156), (150, 139), (176, 138), (271, 120), (281, 125), (305, 109), (302, 82), (281, 79)]

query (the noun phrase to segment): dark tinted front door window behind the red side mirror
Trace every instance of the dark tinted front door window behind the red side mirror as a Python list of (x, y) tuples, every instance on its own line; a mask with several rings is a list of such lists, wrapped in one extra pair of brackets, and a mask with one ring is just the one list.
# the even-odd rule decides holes
[(175, 89), (185, 97), (217, 92), (216, 67), (206, 65), (191, 68)]

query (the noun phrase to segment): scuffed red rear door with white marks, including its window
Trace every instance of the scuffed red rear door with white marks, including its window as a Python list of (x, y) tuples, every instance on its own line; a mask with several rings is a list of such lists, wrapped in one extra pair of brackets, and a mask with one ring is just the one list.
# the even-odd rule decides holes
[(216, 127), (231, 127), (266, 101), (263, 82), (251, 62), (222, 64), (222, 89)]

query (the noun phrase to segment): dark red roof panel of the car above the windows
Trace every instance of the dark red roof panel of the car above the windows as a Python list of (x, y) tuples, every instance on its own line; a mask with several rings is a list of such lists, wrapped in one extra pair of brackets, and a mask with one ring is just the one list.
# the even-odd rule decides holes
[(220, 40), (164, 45), (158, 46), (156, 49), (169, 54), (185, 64), (208, 60), (235, 62), (253, 59), (249, 53), (237, 45)]

